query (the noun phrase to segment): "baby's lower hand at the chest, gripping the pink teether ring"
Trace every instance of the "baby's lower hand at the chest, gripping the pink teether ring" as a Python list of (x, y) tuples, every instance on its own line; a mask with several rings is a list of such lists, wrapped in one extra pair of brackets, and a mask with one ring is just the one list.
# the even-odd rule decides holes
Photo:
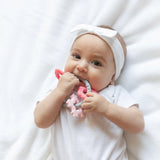
[(86, 95), (88, 97), (83, 100), (81, 105), (85, 113), (96, 112), (103, 115), (107, 111), (110, 103), (103, 96), (94, 92), (89, 92)]

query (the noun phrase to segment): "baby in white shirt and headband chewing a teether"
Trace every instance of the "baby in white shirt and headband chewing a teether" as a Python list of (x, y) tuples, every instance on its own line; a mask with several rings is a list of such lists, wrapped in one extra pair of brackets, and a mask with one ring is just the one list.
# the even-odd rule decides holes
[[(144, 119), (137, 103), (115, 85), (124, 66), (126, 47), (119, 33), (86, 24), (76, 26), (70, 55), (56, 88), (35, 109), (40, 128), (52, 126), (54, 160), (126, 160), (124, 131), (140, 133)], [(81, 108), (85, 118), (75, 118), (66, 97), (87, 80), (98, 93), (89, 92)]]

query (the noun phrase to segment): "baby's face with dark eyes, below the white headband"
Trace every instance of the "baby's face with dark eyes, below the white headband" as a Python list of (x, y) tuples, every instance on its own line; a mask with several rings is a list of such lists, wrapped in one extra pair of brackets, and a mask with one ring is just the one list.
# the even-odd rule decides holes
[(94, 90), (100, 91), (114, 83), (112, 51), (98, 36), (82, 35), (74, 41), (64, 71), (88, 80)]

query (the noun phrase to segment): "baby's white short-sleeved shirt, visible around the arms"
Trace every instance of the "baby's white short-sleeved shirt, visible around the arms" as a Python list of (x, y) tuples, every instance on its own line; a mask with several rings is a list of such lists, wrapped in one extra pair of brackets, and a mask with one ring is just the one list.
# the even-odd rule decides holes
[[(136, 103), (121, 86), (109, 86), (99, 94), (126, 108)], [(66, 107), (53, 124), (52, 147), (54, 160), (128, 159), (122, 129), (95, 113), (75, 118)]]

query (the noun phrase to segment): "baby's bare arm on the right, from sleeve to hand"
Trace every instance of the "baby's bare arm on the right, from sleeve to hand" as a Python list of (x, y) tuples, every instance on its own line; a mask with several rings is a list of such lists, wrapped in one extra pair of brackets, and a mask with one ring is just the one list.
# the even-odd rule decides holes
[(81, 107), (85, 113), (97, 112), (130, 133), (140, 133), (144, 129), (144, 118), (136, 106), (124, 108), (108, 102), (105, 97), (96, 93), (87, 93)]

